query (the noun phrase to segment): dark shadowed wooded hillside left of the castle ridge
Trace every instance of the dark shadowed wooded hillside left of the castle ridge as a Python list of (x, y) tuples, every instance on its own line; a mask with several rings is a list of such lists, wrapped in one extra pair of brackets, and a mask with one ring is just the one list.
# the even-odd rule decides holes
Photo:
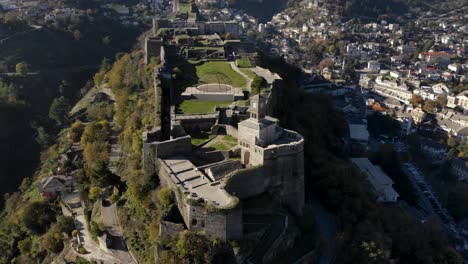
[[(13, 85), (23, 102), (20, 106), (0, 103), (1, 195), (14, 192), (37, 166), (40, 146), (31, 125), (43, 127), (47, 134), (56, 133), (47, 118), (52, 100), (64, 96), (76, 101), (103, 58), (114, 58), (117, 52), (132, 47), (144, 30), (124, 28), (108, 19), (83, 20), (71, 27), (80, 32), (79, 39), (74, 31), (32, 28), (23, 21), (0, 19), (0, 38), (6, 39), (0, 43), (0, 80)], [(103, 41), (106, 37), (109, 41)], [(20, 62), (27, 65), (27, 74), (15, 73)]]

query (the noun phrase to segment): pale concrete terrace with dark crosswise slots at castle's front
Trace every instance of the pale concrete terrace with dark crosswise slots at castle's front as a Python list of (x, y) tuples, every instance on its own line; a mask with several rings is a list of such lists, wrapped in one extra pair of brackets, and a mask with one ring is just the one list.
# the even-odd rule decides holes
[(221, 188), (219, 182), (212, 182), (198, 168), (183, 156), (176, 156), (162, 160), (170, 172), (171, 179), (182, 193), (190, 192), (189, 198), (204, 199), (215, 207), (227, 207), (234, 198)]

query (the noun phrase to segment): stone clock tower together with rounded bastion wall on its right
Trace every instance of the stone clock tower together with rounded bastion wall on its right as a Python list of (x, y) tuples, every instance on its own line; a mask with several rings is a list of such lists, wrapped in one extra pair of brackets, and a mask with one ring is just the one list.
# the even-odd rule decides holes
[(250, 118), (239, 123), (241, 162), (263, 169), (270, 192), (296, 215), (304, 208), (304, 139), (294, 131), (278, 126), (268, 117), (266, 99), (250, 98)]

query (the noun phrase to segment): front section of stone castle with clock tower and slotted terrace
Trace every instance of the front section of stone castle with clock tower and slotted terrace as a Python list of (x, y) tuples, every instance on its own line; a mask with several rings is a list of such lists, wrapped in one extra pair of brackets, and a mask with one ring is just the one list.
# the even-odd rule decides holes
[[(302, 214), (304, 139), (265, 115), (265, 98), (256, 95), (250, 101), (250, 117), (238, 124), (237, 154), (231, 151), (220, 161), (196, 166), (189, 135), (164, 141), (157, 139), (159, 130), (144, 135), (145, 172), (156, 173), (161, 184), (174, 191), (189, 230), (242, 239), (242, 201), (263, 193), (272, 194), (293, 214)], [(184, 225), (163, 221), (161, 233), (181, 231)]]

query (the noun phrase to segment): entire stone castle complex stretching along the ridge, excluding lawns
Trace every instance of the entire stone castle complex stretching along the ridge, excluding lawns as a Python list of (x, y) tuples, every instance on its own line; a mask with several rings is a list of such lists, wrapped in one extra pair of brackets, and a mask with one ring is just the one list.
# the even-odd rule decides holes
[[(178, 23), (155, 21), (155, 30), (163, 24), (172, 30)], [(194, 26), (188, 23), (180, 25)], [(206, 25), (211, 24), (203, 23), (205, 26), (195, 25), (197, 33), (191, 37), (200, 37), (200, 30), (206, 33)], [(232, 33), (237, 28), (233, 24), (232, 30), (227, 29), (229, 22), (216, 23), (224, 23), (216, 28), (217, 33)], [(270, 88), (261, 95), (245, 94), (247, 106), (218, 108), (216, 113), (177, 114), (175, 101), (184, 96), (173, 94), (172, 68), (177, 67), (177, 61), (187, 59), (177, 50), (189, 49), (190, 45), (175, 43), (180, 35), (172, 32), (166, 37), (148, 38), (145, 46), (147, 60), (157, 56), (161, 64), (154, 78), (160, 127), (143, 135), (144, 171), (148, 176), (157, 175), (160, 184), (172, 191), (175, 201), (171, 214), (160, 221), (160, 235), (172, 236), (188, 229), (222, 240), (242, 240), (251, 233), (245, 222), (252, 215), (277, 214), (280, 208), (302, 215), (304, 138), (280, 127), (277, 119), (267, 115), (274, 113), (275, 98), (283, 90), (281, 78), (257, 69), (256, 74), (263, 76)], [(228, 47), (232, 46), (224, 44), (226, 50)], [(240, 54), (240, 50), (245, 48), (234, 53)], [(228, 56), (223, 59), (229, 60)], [(193, 94), (190, 97), (196, 98)], [(229, 150), (195, 147), (190, 133), (200, 130), (228, 135), (237, 142)]]

